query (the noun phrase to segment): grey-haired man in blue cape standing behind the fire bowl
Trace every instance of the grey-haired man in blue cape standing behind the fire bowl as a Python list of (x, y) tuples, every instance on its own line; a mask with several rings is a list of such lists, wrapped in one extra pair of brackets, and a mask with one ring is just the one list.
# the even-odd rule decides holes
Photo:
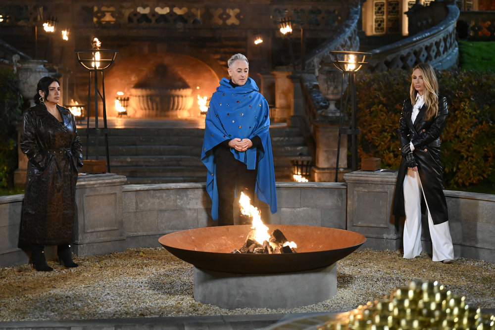
[(201, 152), (218, 226), (234, 225), (233, 203), (240, 191), (251, 200), (256, 194), (277, 212), (268, 102), (248, 77), (246, 56), (233, 55), (228, 67), (231, 79), (222, 78), (210, 99)]

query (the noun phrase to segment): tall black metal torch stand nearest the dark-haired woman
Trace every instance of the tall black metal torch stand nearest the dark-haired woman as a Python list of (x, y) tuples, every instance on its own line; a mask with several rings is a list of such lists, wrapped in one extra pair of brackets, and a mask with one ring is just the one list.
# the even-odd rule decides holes
[[(118, 50), (115, 49), (103, 49), (100, 48), (101, 43), (98, 38), (94, 38), (92, 42), (92, 49), (85, 50), (76, 50), (77, 60), (79, 64), (81, 64), (84, 68), (89, 70), (89, 81), (88, 81), (88, 110), (91, 104), (91, 74), (93, 73), (94, 78), (94, 96), (95, 96), (95, 146), (96, 146), (96, 160), (98, 161), (99, 155), (99, 135), (100, 129), (98, 128), (98, 96), (100, 96), (102, 104), (103, 104), (103, 133), (105, 136), (105, 150), (106, 150), (106, 170), (110, 172), (110, 157), (108, 155), (108, 128), (106, 124), (106, 100), (105, 100), (105, 75), (103, 70), (108, 68), (114, 61), (117, 56)], [(98, 88), (98, 76), (101, 74), (101, 90), (100, 93)], [(89, 127), (90, 127), (90, 118), (88, 111), (88, 124), (87, 124), (87, 140), (89, 141)], [(86, 159), (88, 159), (89, 153), (89, 145), (86, 143)]]

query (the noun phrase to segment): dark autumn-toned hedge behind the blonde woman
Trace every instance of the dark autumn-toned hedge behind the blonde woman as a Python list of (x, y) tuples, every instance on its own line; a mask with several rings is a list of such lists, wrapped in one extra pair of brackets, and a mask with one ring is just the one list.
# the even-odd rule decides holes
[[(495, 187), (495, 75), (493, 72), (437, 72), (449, 115), (442, 140), (446, 189)], [(359, 159), (381, 158), (382, 168), (400, 164), (398, 123), (408, 97), (410, 72), (357, 74)]]

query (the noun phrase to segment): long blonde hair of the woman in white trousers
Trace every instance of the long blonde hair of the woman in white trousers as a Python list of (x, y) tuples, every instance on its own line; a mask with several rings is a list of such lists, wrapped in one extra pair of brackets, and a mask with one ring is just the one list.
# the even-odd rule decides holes
[[(438, 114), (438, 81), (437, 75), (435, 75), (435, 70), (428, 63), (419, 63), (412, 69), (419, 69), (421, 71), (421, 75), (423, 76), (423, 83), (425, 84), (425, 91), (423, 92), (423, 99), (426, 105), (426, 115), (425, 119), (430, 120), (437, 116)], [(414, 88), (414, 82), (412, 81), (411, 74), (411, 89), (410, 96), (412, 105), (416, 103), (416, 94), (418, 91)]]

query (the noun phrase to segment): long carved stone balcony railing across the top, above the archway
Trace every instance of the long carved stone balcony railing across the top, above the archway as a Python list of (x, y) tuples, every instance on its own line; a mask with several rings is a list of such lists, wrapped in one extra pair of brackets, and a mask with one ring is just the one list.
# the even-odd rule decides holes
[[(90, 0), (66, 1), (5, 0), (2, 14), (9, 15), (5, 25), (31, 26), (38, 19), (39, 8), (45, 17), (58, 17), (70, 25), (72, 32), (98, 28), (99, 33), (119, 29), (130, 35), (148, 29), (148, 35), (163, 35), (164, 30), (180, 31), (181, 35), (245, 36), (250, 30), (278, 30), (280, 19), (290, 16), (297, 29), (294, 38), (305, 36), (326, 38), (333, 35), (347, 17), (348, 4), (340, 0), (312, 1), (244, 1), (244, 0)], [(68, 21), (64, 17), (73, 17)], [(62, 21), (66, 22), (62, 22)], [(124, 29), (124, 31), (122, 31)], [(129, 29), (131, 31), (127, 31)], [(132, 31), (134, 30), (134, 31)], [(211, 30), (223, 30), (212, 34)], [(141, 32), (142, 33), (142, 32)]]

